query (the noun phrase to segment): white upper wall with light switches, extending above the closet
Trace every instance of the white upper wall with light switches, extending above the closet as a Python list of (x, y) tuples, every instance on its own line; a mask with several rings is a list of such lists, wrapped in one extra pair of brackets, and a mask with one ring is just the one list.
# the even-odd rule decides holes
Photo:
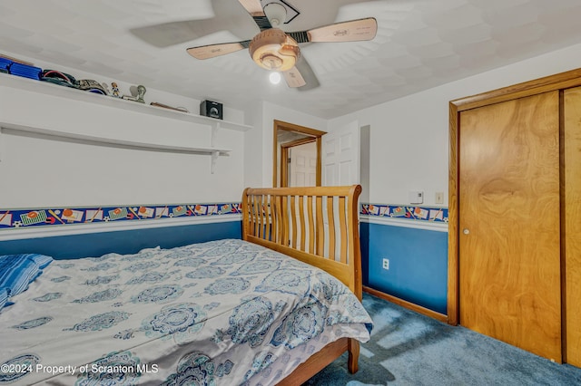
[(448, 206), (448, 102), (581, 67), (581, 44), (483, 72), (328, 122), (327, 131), (358, 120), (370, 125), (369, 202), (407, 204), (423, 190), (425, 205), (445, 192)]

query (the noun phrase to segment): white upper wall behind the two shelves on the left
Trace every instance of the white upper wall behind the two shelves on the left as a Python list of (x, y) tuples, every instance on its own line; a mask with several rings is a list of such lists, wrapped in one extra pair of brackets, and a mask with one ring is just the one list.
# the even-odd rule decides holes
[[(99, 75), (59, 70), (77, 79), (101, 81)], [(124, 104), (136, 102), (118, 101), (117, 107), (35, 92), (32, 86), (25, 89), (0, 84), (0, 122), (118, 140), (211, 146), (210, 126), (123, 109)], [(147, 91), (145, 101), (184, 106), (194, 114), (199, 106), (195, 99), (155, 90)], [(224, 118), (243, 123), (244, 113), (226, 109)], [(239, 202), (244, 186), (243, 143), (244, 132), (219, 130), (214, 146), (232, 151), (228, 157), (219, 157), (212, 174), (209, 155), (121, 149), (4, 130), (0, 207)]]

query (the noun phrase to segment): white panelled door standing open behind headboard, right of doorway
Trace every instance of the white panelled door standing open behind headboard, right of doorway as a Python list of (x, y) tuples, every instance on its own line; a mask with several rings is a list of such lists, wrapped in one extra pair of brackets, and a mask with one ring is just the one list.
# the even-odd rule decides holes
[(322, 184), (359, 184), (359, 122), (352, 121), (322, 137)]

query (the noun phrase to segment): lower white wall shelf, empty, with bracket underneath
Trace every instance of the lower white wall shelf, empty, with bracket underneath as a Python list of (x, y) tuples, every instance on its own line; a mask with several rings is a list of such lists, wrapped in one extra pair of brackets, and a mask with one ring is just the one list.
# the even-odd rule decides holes
[[(219, 149), (219, 148), (200, 148), (200, 147), (187, 147), (187, 146), (172, 146), (172, 145), (159, 145), (155, 143), (140, 142), (136, 140), (116, 140), (113, 138), (99, 137), (93, 135), (76, 134), (72, 132), (60, 131), (60, 130), (50, 130), (44, 128), (33, 128), (24, 125), (19, 125), (9, 122), (0, 121), (0, 144), (2, 143), (2, 137), (6, 134), (18, 134), (18, 133), (29, 133), (36, 136), (44, 136), (48, 138), (60, 139), (60, 140), (73, 140), (75, 142), (81, 142), (86, 144), (105, 144), (113, 147), (124, 148), (124, 149), (135, 149), (135, 150), (153, 150), (153, 151), (164, 151), (172, 153), (185, 153), (185, 154), (206, 154), (212, 156), (212, 174), (216, 165), (216, 160), (220, 155), (228, 155), (231, 149)], [(0, 148), (0, 150), (2, 150)], [(2, 152), (0, 151), (0, 161), (2, 160)]]

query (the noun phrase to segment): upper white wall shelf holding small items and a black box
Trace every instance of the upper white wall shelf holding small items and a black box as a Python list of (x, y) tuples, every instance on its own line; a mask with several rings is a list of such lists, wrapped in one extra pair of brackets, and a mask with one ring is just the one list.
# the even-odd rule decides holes
[(100, 104), (103, 106), (114, 107), (127, 111), (142, 112), (159, 117), (169, 118), (172, 120), (186, 121), (211, 126), (212, 129), (228, 129), (246, 131), (251, 130), (251, 126), (241, 123), (216, 120), (202, 115), (192, 114), (183, 111), (174, 111), (156, 107), (136, 101), (125, 101), (120, 98), (113, 98), (106, 95), (95, 94), (93, 92), (84, 92), (70, 87), (59, 86), (49, 82), (34, 81), (32, 79), (20, 76), (10, 75), (0, 72), (0, 87), (11, 87), (14, 89), (25, 90), (29, 92), (41, 92), (51, 96), (67, 98), (74, 101), (86, 101), (89, 103)]

